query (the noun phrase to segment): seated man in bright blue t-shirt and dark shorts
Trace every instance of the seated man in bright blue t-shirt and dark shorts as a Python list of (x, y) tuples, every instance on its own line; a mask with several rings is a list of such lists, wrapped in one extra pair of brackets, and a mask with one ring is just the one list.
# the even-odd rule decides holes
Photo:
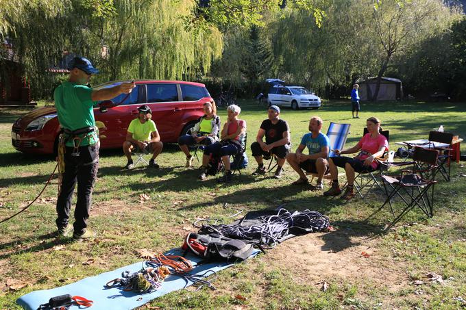
[[(323, 190), (323, 175), (328, 170), (328, 153), (330, 151), (330, 140), (328, 136), (321, 133), (322, 119), (319, 116), (312, 116), (309, 120), (309, 131), (306, 133), (296, 153), (289, 153), (286, 160), (297, 174), (299, 179), (293, 185), (308, 184), (308, 178), (303, 170), (317, 174), (317, 184), (311, 185), (311, 190)], [(309, 155), (304, 155), (304, 148), (308, 148)]]

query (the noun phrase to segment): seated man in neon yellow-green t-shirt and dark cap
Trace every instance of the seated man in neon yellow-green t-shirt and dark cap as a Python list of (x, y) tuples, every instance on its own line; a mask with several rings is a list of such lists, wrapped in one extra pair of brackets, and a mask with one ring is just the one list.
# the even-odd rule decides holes
[(134, 167), (131, 152), (134, 148), (140, 152), (152, 153), (152, 158), (149, 160), (149, 167), (159, 168), (156, 163), (156, 157), (162, 153), (163, 143), (160, 141), (160, 135), (156, 127), (156, 123), (152, 118), (152, 110), (147, 105), (138, 107), (138, 118), (134, 118), (130, 122), (130, 126), (126, 132), (126, 141), (123, 142), (123, 152), (125, 152), (128, 162), (125, 169)]

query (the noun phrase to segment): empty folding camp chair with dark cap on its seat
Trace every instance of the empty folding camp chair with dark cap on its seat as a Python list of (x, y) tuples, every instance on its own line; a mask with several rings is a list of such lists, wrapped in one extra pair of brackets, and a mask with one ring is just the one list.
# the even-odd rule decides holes
[[(382, 180), (386, 188), (387, 199), (382, 206), (376, 211), (380, 211), (387, 203), (391, 204), (391, 199), (398, 196), (406, 204), (406, 207), (398, 215), (388, 228), (393, 227), (408, 211), (414, 207), (419, 207), (426, 216), (431, 218), (434, 215), (434, 184), (435, 171), (437, 170), (437, 160), (439, 151), (415, 147), (413, 154), (413, 170), (402, 170), (401, 175), (390, 177), (382, 175)], [(426, 169), (420, 171), (419, 166), (426, 166)], [(424, 179), (421, 172), (430, 173), (429, 179)], [(391, 190), (391, 192), (389, 192)], [(429, 191), (431, 193), (429, 194)], [(407, 196), (407, 197), (406, 197)], [(393, 209), (391, 210), (393, 213)], [(375, 212), (375, 213), (376, 213)]]

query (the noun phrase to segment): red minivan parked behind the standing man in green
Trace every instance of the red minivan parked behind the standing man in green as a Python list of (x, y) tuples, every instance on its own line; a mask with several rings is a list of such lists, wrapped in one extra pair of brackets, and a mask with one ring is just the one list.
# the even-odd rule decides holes
[[(94, 89), (119, 85), (121, 81), (103, 83)], [(137, 117), (140, 105), (149, 105), (162, 142), (177, 142), (191, 131), (204, 114), (202, 106), (212, 101), (206, 86), (186, 81), (136, 81), (129, 96), (120, 94), (102, 101), (94, 109), (100, 131), (101, 148), (119, 148), (126, 138), (127, 127)], [(101, 126), (99, 126), (101, 127)], [(60, 124), (55, 107), (41, 107), (16, 120), (12, 127), (12, 144), (16, 150), (30, 154), (56, 152)]]

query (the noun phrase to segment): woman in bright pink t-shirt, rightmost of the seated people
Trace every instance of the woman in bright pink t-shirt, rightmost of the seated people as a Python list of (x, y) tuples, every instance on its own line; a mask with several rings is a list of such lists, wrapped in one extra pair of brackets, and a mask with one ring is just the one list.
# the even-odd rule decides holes
[(354, 196), (354, 172), (372, 172), (378, 169), (379, 164), (375, 159), (382, 157), (385, 151), (389, 150), (389, 142), (380, 133), (382, 127), (380, 127), (380, 120), (378, 118), (367, 118), (366, 126), (369, 133), (366, 133), (358, 144), (343, 151), (338, 149), (334, 151), (337, 155), (352, 154), (360, 151), (356, 157), (335, 156), (328, 159), (330, 175), (332, 175), (332, 188), (324, 192), (324, 196), (338, 196), (341, 194), (337, 167), (345, 168), (348, 185), (343, 198), (347, 200)]

